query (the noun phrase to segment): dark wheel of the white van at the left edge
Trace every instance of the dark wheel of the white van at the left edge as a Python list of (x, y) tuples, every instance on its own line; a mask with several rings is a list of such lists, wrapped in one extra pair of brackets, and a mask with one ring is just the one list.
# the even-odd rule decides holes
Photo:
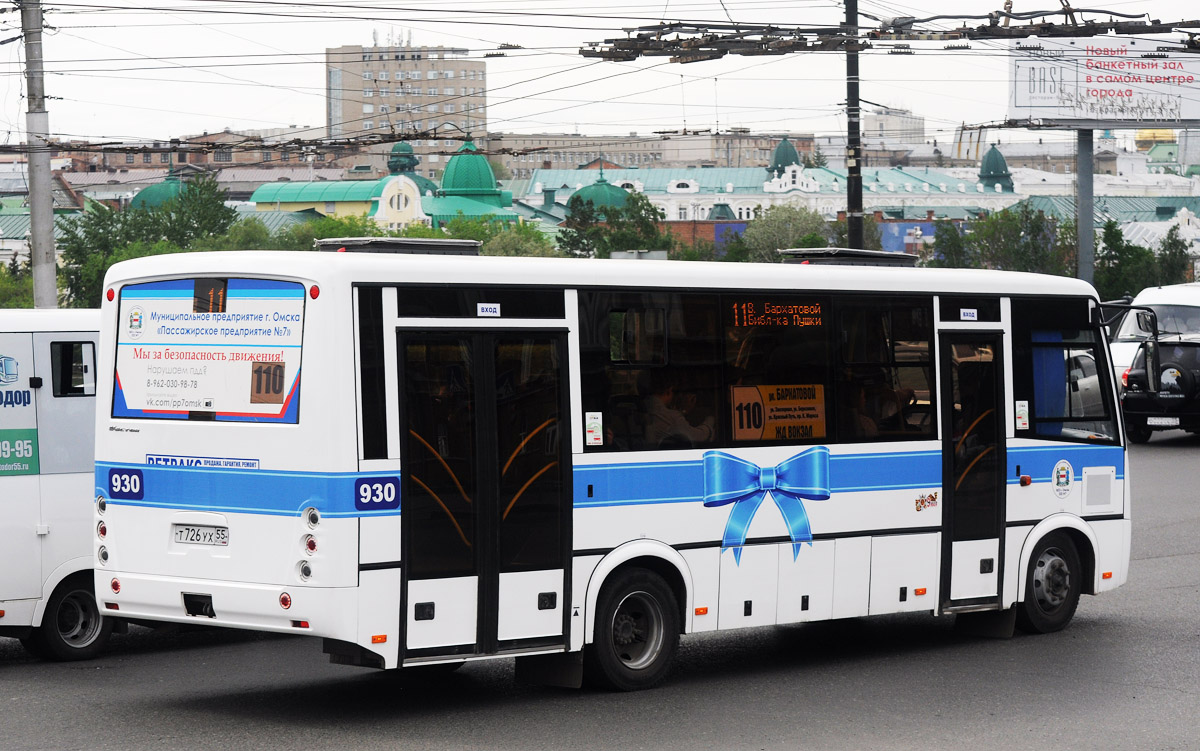
[(47, 660), (91, 660), (113, 633), (113, 619), (96, 606), (90, 572), (64, 581), (50, 595), (42, 625), (25, 641), (31, 653)]

